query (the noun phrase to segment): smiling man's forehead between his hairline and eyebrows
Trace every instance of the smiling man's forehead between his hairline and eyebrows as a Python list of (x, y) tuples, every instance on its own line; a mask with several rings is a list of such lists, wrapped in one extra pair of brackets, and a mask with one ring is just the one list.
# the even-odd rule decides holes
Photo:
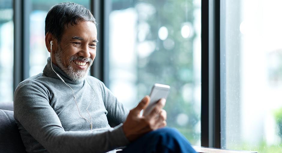
[(63, 37), (67, 39), (71, 39), (74, 36), (79, 36), (82, 38), (97, 38), (97, 28), (96, 25), (93, 22), (90, 21), (81, 21), (78, 22), (78, 24), (75, 24), (74, 26), (67, 26), (64, 29), (64, 33), (62, 35)]

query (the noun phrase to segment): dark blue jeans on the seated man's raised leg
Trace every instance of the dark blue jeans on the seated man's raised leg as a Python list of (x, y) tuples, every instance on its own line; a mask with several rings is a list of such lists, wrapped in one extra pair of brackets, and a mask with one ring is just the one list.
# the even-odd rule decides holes
[(174, 128), (151, 131), (129, 144), (120, 153), (196, 153), (186, 138)]

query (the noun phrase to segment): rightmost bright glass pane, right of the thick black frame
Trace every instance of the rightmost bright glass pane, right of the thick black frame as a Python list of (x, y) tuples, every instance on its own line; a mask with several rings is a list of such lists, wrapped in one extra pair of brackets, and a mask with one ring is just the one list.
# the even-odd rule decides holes
[(276, 0), (223, 5), (223, 148), (282, 152), (281, 6)]

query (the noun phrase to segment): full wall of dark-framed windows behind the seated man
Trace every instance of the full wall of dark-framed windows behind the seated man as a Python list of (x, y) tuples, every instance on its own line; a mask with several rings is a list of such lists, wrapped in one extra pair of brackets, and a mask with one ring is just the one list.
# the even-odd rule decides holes
[[(0, 1), (1, 103), (12, 101), (13, 83), (42, 72), (49, 56), (44, 42), (45, 17), (52, 5), (62, 1), (14, 2), (20, 6), (14, 9), (19, 10), (15, 11), (15, 24), (13, 1)], [(72, 2), (91, 7), (95, 13), (101, 52), (97, 52), (91, 74), (104, 80), (125, 107), (135, 107), (149, 95), (154, 83), (167, 84), (171, 86), (164, 108), (168, 126), (177, 128), (193, 145), (281, 152), (282, 2)], [(21, 39), (15, 49), (14, 27), (20, 29), (15, 39)], [(26, 40), (29, 43), (24, 43)], [(201, 50), (206, 54), (201, 55)], [(22, 58), (14, 62), (17, 56)], [(13, 74), (13, 69), (19, 72)], [(201, 78), (208, 81), (201, 82)], [(202, 111), (206, 129), (201, 129), (201, 106), (207, 110)]]

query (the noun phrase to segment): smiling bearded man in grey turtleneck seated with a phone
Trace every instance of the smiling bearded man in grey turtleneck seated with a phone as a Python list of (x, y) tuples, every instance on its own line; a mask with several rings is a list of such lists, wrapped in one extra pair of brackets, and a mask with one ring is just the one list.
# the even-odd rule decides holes
[(128, 112), (98, 79), (87, 76), (96, 56), (96, 22), (75, 3), (60, 3), (45, 20), (50, 58), (43, 70), (21, 82), (14, 118), (27, 152), (194, 152), (166, 126), (161, 99), (148, 116), (149, 96)]

